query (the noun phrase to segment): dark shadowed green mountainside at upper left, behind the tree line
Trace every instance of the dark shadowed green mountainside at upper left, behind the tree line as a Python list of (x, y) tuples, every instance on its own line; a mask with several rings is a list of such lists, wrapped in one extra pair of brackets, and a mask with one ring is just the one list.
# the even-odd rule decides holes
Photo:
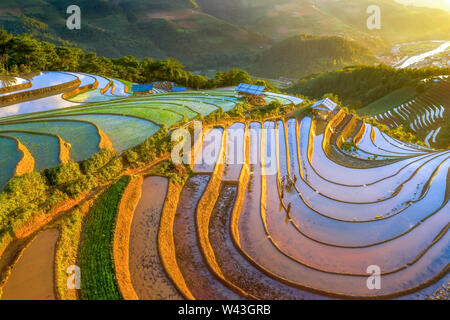
[(188, 67), (240, 66), (270, 41), (194, 9), (189, 0), (81, 0), (81, 30), (65, 25), (69, 0), (6, 0), (0, 27), (108, 57), (175, 57)]

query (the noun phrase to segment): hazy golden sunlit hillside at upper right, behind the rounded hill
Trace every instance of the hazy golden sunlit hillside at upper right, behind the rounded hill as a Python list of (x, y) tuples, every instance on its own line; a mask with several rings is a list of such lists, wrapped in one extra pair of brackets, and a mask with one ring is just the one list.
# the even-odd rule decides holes
[[(405, 6), (394, 0), (197, 0), (200, 8), (231, 23), (283, 39), (299, 33), (353, 37), (383, 50), (409, 39), (434, 40), (450, 34), (450, 13)], [(368, 30), (367, 8), (378, 5), (381, 30)]]

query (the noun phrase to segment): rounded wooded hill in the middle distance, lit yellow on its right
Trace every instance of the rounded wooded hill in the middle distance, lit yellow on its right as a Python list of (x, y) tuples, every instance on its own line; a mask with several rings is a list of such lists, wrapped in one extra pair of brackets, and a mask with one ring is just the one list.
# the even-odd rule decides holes
[(337, 36), (298, 35), (265, 51), (249, 70), (263, 77), (301, 78), (375, 61), (370, 51), (355, 41)]

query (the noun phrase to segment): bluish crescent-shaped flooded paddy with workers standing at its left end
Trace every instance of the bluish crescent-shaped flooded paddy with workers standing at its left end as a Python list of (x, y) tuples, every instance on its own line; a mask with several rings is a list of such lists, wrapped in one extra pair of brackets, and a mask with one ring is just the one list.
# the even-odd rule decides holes
[[(291, 175), (296, 174), (297, 176), (299, 176), (299, 173), (297, 171), (298, 168), (296, 169), (295, 164), (292, 164), (292, 159), (297, 159), (297, 152), (295, 147), (291, 147), (291, 145), (295, 145), (295, 143), (291, 143), (292, 140), (295, 140), (295, 136), (292, 137), (293, 134), (291, 133), (291, 131), (292, 130), (288, 125)], [(282, 135), (283, 131), (280, 132), (279, 144), (281, 151), (284, 149), (284, 139)], [(284, 153), (280, 152), (280, 169), (282, 172), (287, 172), (286, 165), (284, 164), (284, 159)], [(296, 196), (295, 194), (292, 195), (287, 193), (285, 202), (287, 203), (287, 199), (291, 198), (289, 201), (292, 202), (291, 217), (293, 223), (307, 237), (316, 239), (320, 242), (325, 242), (330, 245), (367, 246), (406, 233), (412, 228), (416, 227), (418, 224), (421, 224), (421, 220), (425, 217), (436, 214), (436, 211), (441, 209), (441, 207), (445, 205), (447, 201), (445, 198), (447, 172), (448, 163), (440, 168), (436, 177), (433, 179), (433, 183), (431, 184), (426, 197), (414, 203), (402, 213), (384, 220), (377, 220), (367, 223), (352, 223), (328, 219), (317, 214), (309, 207), (307, 207), (302, 201), (301, 197), (299, 197), (298, 195)], [(302, 187), (302, 185), (304, 184), (305, 183), (302, 179), (298, 179), (297, 185), (299, 187)], [(314, 185), (314, 187), (316, 186), (317, 184)], [(350, 194), (354, 195), (355, 191), (352, 191)], [(362, 196), (361, 192), (357, 194), (358, 197)], [(442, 210), (439, 210), (438, 213), (444, 215), (444, 212)], [(421, 226), (423, 226), (423, 224), (421, 224)]]

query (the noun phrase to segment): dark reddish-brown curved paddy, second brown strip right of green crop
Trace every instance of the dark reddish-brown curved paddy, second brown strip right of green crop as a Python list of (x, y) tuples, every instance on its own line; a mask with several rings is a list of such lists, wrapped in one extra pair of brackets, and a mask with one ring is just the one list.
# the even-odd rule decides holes
[(181, 192), (173, 226), (177, 262), (195, 298), (239, 299), (211, 274), (198, 246), (196, 209), (209, 179), (209, 175), (196, 175), (186, 182)]

